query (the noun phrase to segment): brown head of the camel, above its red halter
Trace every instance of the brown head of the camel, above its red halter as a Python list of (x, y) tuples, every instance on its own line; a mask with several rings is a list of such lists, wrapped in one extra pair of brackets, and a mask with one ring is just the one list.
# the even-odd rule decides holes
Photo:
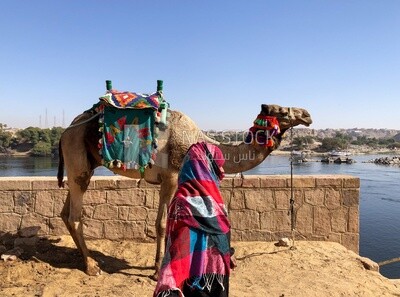
[(312, 123), (309, 112), (303, 108), (262, 104), (261, 114), (276, 117), (282, 134), (290, 127), (298, 125), (309, 126)]

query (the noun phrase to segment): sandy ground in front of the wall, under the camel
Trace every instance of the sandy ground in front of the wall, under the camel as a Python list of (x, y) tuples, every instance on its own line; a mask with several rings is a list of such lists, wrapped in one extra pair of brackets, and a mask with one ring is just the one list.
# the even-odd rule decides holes
[[(152, 296), (155, 244), (88, 241), (103, 273), (82, 271), (69, 236), (41, 238), (15, 261), (0, 262), (0, 296)], [(400, 296), (400, 280), (366, 270), (337, 243), (234, 242), (238, 267), (230, 296)]]

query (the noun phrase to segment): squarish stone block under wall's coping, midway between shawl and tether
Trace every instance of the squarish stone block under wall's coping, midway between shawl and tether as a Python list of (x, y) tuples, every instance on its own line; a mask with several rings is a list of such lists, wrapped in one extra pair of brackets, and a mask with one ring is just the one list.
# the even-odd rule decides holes
[(247, 209), (264, 212), (275, 209), (272, 190), (247, 190), (244, 192), (245, 206)]

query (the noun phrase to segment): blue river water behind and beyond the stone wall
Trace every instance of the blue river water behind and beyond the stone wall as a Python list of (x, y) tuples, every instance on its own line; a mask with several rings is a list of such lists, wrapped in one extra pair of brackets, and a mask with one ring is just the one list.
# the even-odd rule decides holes
[[(361, 181), (360, 255), (380, 262), (400, 257), (400, 167), (365, 163), (382, 155), (352, 156), (353, 164), (306, 162), (293, 165), (294, 175), (348, 174)], [(315, 161), (320, 159), (315, 158)], [(54, 176), (58, 160), (52, 158), (1, 157), (0, 176)], [(288, 156), (269, 156), (245, 174), (290, 174)], [(95, 175), (113, 175), (98, 168)], [(380, 268), (388, 278), (400, 278), (400, 263)]]

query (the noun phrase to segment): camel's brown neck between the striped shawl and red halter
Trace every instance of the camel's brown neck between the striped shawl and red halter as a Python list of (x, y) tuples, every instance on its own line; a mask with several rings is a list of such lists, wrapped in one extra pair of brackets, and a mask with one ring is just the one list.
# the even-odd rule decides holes
[(225, 157), (225, 173), (239, 173), (250, 170), (260, 164), (273, 151), (261, 145), (240, 143), (238, 145), (220, 143)]

